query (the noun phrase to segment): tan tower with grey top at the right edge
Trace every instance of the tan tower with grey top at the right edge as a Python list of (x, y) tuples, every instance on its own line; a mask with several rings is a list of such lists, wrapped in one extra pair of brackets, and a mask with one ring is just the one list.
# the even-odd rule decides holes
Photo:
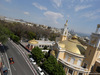
[(98, 56), (100, 55), (100, 24), (97, 25), (95, 33), (91, 34), (87, 50), (85, 51), (85, 58), (83, 61), (83, 68), (87, 68), (91, 71), (91, 68), (94, 66)]

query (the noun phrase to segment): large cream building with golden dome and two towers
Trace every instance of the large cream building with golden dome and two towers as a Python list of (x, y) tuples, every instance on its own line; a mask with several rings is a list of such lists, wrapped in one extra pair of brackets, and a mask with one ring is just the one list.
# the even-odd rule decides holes
[[(68, 38), (67, 21), (63, 34), (56, 41), (51, 54), (64, 67), (66, 75), (96, 75), (100, 73), (100, 33), (98, 24), (87, 46), (82, 45), (77, 36)], [(100, 75), (100, 74), (98, 74)]]

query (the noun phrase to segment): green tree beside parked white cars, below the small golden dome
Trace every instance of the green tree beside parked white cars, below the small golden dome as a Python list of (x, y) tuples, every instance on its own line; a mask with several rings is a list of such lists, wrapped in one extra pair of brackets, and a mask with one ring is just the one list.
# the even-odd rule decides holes
[(35, 47), (32, 49), (32, 57), (39, 64), (42, 61), (42, 59), (44, 58), (44, 54), (39, 47)]

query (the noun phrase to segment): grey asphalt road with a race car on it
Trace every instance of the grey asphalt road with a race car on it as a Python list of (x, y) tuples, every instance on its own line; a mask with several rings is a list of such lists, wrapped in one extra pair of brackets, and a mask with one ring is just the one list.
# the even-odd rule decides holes
[(5, 45), (6, 53), (9, 57), (13, 57), (14, 64), (10, 64), (12, 75), (33, 75), (28, 64), (17, 50), (17, 48), (12, 45), (11, 42), (7, 42)]

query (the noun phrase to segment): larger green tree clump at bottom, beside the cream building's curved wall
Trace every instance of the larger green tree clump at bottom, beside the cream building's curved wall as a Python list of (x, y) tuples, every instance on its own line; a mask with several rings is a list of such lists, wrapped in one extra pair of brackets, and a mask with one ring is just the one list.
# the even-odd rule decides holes
[(58, 64), (56, 58), (53, 56), (48, 57), (43, 63), (42, 68), (50, 75), (65, 75), (62, 65)]

